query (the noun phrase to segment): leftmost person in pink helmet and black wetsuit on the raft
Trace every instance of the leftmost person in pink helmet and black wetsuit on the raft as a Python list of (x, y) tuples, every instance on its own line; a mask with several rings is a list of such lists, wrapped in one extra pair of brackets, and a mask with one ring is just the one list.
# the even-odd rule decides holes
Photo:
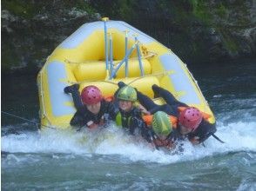
[(64, 88), (64, 93), (71, 93), (77, 112), (71, 119), (71, 126), (88, 128), (98, 128), (104, 125), (106, 120), (116, 116), (112, 102), (106, 102), (98, 87), (90, 85), (86, 86), (81, 95), (79, 95), (79, 85), (75, 84)]

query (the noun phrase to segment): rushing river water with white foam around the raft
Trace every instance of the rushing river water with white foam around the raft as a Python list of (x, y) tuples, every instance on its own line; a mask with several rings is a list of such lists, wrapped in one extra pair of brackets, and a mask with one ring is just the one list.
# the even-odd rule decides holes
[[(217, 118), (205, 147), (156, 151), (113, 127), (77, 133), (2, 115), (3, 190), (256, 190), (256, 60), (189, 66)], [(2, 110), (38, 122), (36, 76), (3, 76)]]

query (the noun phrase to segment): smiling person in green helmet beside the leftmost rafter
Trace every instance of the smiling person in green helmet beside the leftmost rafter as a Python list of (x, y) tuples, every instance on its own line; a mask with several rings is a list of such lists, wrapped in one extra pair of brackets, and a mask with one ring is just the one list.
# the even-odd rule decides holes
[[(118, 126), (129, 129), (131, 135), (141, 134), (145, 129), (145, 122), (142, 119), (142, 112), (136, 106), (137, 91), (125, 83), (118, 83), (119, 89), (116, 92), (118, 100), (118, 114), (116, 115), (116, 123)], [(137, 132), (136, 132), (136, 129)]]

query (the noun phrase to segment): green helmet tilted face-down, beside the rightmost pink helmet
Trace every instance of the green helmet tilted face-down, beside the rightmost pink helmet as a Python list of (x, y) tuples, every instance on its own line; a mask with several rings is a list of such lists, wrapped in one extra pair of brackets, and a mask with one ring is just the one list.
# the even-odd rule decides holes
[(157, 135), (169, 135), (172, 132), (172, 122), (169, 115), (163, 111), (158, 111), (153, 115), (152, 128)]

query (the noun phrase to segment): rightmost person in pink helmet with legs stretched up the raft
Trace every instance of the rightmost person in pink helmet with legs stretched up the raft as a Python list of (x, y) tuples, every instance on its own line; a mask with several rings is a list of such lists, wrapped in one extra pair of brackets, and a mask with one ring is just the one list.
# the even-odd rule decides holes
[(138, 102), (142, 104), (151, 114), (157, 111), (164, 111), (167, 115), (174, 116), (178, 119), (177, 139), (184, 140), (188, 138), (193, 144), (204, 142), (209, 136), (216, 138), (215, 124), (208, 122), (199, 109), (189, 107), (184, 102), (179, 102), (168, 90), (152, 86), (152, 90), (158, 97), (164, 98), (166, 104), (158, 105), (147, 95), (138, 92)]

